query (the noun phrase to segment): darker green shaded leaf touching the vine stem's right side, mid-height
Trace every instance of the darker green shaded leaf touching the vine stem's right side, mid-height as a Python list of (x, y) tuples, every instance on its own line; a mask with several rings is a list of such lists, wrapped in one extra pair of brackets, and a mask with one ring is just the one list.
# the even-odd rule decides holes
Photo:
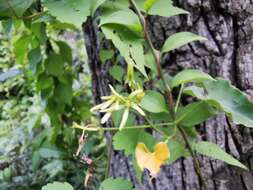
[(176, 121), (183, 126), (194, 126), (201, 124), (216, 114), (216, 110), (205, 101), (195, 102), (179, 108), (176, 114)]

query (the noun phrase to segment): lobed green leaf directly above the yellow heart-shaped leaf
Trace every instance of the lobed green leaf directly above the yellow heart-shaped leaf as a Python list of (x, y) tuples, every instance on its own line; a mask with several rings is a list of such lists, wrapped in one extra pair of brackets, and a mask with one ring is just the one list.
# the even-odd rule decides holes
[[(127, 128), (127, 127), (126, 127)], [(113, 137), (113, 147), (115, 150), (124, 150), (125, 155), (134, 154), (138, 143), (144, 143), (152, 149), (155, 139), (152, 135), (144, 132), (142, 129), (125, 129), (117, 132)]]

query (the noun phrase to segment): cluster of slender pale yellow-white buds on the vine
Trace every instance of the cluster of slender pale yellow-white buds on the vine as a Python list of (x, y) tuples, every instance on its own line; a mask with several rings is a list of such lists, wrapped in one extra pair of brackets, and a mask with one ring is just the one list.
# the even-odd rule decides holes
[(110, 96), (101, 97), (104, 102), (91, 108), (91, 112), (99, 111), (101, 113), (105, 113), (101, 119), (101, 124), (107, 122), (113, 112), (122, 109), (124, 109), (124, 112), (120, 122), (119, 130), (121, 130), (126, 125), (131, 108), (142, 116), (145, 116), (144, 111), (139, 106), (144, 96), (142, 89), (137, 89), (130, 93), (128, 96), (123, 96), (116, 92), (116, 90), (111, 85), (109, 85), (109, 87), (112, 94)]

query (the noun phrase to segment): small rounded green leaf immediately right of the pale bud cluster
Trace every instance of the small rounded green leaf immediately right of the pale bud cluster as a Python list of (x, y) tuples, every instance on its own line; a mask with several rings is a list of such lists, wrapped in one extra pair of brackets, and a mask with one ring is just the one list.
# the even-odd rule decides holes
[(164, 97), (156, 91), (146, 91), (141, 101), (141, 107), (151, 113), (167, 112)]

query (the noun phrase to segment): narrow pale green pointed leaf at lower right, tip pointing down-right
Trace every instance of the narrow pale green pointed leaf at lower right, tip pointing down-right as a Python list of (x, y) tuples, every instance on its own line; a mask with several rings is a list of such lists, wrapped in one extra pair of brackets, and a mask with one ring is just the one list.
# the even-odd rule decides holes
[(193, 144), (193, 148), (200, 154), (209, 156), (218, 160), (222, 160), (230, 165), (238, 166), (240, 168), (246, 169), (241, 162), (233, 158), (231, 155), (222, 150), (217, 144), (211, 142), (200, 141)]

